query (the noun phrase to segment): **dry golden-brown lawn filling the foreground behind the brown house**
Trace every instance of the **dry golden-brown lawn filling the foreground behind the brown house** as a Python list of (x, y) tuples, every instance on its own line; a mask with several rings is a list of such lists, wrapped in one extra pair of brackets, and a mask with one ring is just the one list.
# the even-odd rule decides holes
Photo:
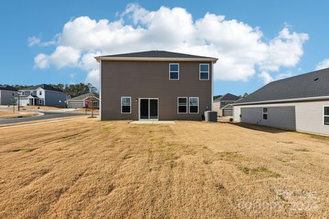
[(0, 129), (0, 136), (1, 218), (329, 215), (326, 137), (91, 118)]

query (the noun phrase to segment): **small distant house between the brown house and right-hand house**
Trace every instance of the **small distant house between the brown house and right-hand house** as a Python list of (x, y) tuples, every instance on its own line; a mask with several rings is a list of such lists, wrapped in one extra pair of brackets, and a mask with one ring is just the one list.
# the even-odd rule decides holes
[(214, 101), (213, 110), (217, 111), (217, 116), (233, 116), (233, 107), (230, 105), (241, 99), (240, 96), (225, 94)]

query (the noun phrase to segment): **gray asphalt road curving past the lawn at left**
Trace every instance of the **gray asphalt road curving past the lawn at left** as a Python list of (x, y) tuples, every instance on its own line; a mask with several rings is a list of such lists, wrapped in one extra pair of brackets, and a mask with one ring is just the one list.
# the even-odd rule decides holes
[(84, 114), (77, 114), (72, 112), (42, 112), (43, 116), (31, 116), (31, 117), (23, 117), (23, 118), (1, 118), (0, 124), (9, 124), (9, 123), (22, 123), (29, 122), (34, 120), (42, 120), (48, 118), (65, 118), (70, 116), (84, 116)]

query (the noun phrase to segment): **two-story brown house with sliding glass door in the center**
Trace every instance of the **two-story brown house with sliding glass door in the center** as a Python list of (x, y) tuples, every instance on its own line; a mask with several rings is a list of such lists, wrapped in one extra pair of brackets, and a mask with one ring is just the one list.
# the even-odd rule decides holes
[(216, 58), (168, 51), (95, 57), (101, 120), (202, 120)]

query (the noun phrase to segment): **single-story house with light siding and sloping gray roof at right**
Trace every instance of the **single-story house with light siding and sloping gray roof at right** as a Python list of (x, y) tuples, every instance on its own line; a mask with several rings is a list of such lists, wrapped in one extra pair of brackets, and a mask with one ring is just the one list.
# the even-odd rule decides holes
[(234, 121), (329, 134), (329, 68), (268, 83), (237, 101)]

